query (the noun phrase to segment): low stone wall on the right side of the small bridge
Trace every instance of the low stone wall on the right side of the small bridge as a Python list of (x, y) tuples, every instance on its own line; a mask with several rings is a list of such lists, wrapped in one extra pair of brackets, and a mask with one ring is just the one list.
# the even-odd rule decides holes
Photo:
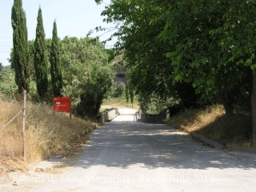
[(139, 122), (164, 124), (164, 121), (170, 118), (170, 111), (164, 110), (160, 114), (144, 114), (142, 113), (142, 110), (139, 109), (137, 112), (137, 118)]

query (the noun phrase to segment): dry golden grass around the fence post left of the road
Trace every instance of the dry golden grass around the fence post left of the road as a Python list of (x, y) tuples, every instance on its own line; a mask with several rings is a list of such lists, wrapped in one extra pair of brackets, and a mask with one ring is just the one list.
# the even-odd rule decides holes
[[(20, 110), (22, 105), (17, 102), (0, 100), (0, 173), (24, 170), (22, 114), (2, 129)], [(50, 106), (29, 103), (26, 112), (26, 162), (66, 154), (78, 138), (96, 126), (94, 122), (76, 117), (70, 121), (69, 114), (54, 113)]]

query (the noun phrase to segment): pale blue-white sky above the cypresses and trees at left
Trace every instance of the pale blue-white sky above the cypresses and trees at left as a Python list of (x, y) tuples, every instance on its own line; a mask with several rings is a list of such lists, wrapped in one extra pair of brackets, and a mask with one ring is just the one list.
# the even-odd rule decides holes
[[(10, 50), (13, 46), (11, 26), (11, 8), (13, 0), (0, 0), (0, 62), (3, 66), (10, 65)], [(46, 38), (52, 38), (54, 20), (57, 22), (58, 37), (64, 38), (86, 37), (86, 34), (96, 26), (110, 27), (102, 22), (101, 16), (104, 7), (110, 0), (104, 0), (102, 5), (97, 5), (94, 0), (22, 0), (23, 10), (26, 12), (26, 26), (28, 39), (35, 38), (38, 8), (41, 6), (43, 25)], [(112, 25), (113, 26), (113, 25)], [(92, 34), (92, 37), (100, 34)], [(110, 34), (103, 35), (103, 41)], [(113, 46), (113, 42), (107, 44)]]

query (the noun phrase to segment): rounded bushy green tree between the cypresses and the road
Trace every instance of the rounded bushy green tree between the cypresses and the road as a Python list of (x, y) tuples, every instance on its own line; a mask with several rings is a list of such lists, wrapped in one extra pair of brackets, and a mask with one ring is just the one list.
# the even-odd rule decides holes
[(70, 95), (76, 114), (95, 118), (111, 90), (114, 71), (98, 39), (69, 38), (61, 42), (63, 92)]

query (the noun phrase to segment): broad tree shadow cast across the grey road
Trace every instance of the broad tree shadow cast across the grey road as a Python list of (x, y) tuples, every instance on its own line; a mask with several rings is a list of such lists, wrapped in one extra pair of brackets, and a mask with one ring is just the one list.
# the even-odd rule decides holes
[(256, 168), (256, 159), (242, 161), (226, 151), (203, 146), (170, 126), (115, 121), (91, 134), (84, 153), (72, 166), (101, 165), (126, 169), (138, 164), (148, 169), (246, 170)]

